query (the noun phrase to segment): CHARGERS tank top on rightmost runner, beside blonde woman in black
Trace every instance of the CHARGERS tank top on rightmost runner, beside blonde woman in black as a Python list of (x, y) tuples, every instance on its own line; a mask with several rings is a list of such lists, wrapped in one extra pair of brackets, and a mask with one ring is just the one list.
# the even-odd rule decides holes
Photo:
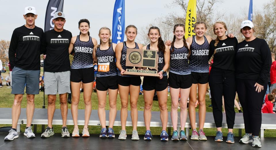
[(201, 45), (197, 44), (193, 36), (193, 42), (190, 46), (191, 56), (189, 62), (189, 68), (192, 72), (209, 72), (208, 54), (209, 43), (204, 36), (205, 42)]

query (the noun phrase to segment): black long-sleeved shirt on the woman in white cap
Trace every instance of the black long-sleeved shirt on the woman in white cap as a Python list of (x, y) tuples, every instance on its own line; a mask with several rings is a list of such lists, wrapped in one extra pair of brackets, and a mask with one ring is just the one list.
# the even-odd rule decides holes
[(257, 80), (260, 85), (267, 82), (271, 67), (271, 52), (264, 39), (242, 41), (236, 49), (236, 78)]

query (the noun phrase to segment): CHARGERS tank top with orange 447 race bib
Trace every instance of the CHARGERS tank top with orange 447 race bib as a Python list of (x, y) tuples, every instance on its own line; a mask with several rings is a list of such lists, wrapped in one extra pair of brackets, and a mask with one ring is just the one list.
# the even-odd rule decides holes
[(100, 50), (100, 46), (97, 47), (96, 57), (98, 59), (97, 77), (106, 77), (117, 74), (115, 61), (116, 56), (112, 47), (112, 43), (107, 50)]

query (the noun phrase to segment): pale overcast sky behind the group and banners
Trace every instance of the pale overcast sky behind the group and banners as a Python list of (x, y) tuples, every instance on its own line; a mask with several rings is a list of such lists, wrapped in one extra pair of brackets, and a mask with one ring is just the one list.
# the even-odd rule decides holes
[[(133, 24), (139, 29), (168, 13), (175, 12), (183, 15), (184, 12), (180, 8), (166, 7), (166, 4), (172, 1), (125, 0), (125, 25)], [(253, 0), (253, 15), (255, 10), (261, 10), (264, 3), (269, 1)], [(248, 12), (249, 0), (222, 0), (222, 2), (215, 6), (217, 11), (226, 11), (227, 13)], [(36, 8), (38, 18), (35, 25), (44, 30), (47, 3), (48, 0), (0, 0), (0, 40), (10, 40), (13, 30), (26, 23), (23, 13), (24, 7), (27, 6)], [(78, 21), (86, 18), (90, 21), (90, 36), (96, 38), (99, 43), (99, 29), (106, 26), (112, 30), (114, 3), (115, 0), (64, 0), (63, 12), (66, 17), (64, 29), (69, 30), (73, 36), (76, 36), (79, 33)]]

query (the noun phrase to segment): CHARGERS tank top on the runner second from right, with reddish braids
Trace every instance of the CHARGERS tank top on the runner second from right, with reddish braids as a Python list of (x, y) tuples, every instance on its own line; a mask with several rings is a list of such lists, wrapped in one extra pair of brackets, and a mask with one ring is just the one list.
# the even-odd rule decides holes
[(179, 75), (191, 74), (188, 66), (188, 49), (184, 46), (181, 48), (174, 48), (172, 52), (170, 48), (170, 72)]

